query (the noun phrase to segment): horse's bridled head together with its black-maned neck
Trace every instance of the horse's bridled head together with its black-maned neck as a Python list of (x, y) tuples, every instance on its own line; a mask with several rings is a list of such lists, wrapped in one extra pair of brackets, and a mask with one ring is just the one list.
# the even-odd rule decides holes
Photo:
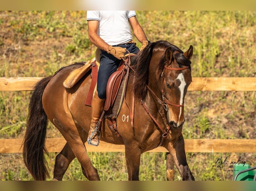
[[(150, 94), (163, 105), (170, 127), (181, 127), (187, 88), (192, 81), (190, 58), (193, 46), (183, 53), (167, 41), (150, 43), (137, 56), (134, 94), (146, 100)], [(154, 99), (155, 99), (154, 98)]]

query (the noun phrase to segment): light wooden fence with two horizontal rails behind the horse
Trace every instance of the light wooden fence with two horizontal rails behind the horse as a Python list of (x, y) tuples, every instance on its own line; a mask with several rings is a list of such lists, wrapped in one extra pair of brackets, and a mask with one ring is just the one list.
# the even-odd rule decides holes
[[(0, 91), (31, 91), (42, 78), (0, 78)], [(193, 78), (188, 91), (256, 91), (256, 78)], [(49, 152), (59, 152), (63, 138), (46, 139)], [(0, 139), (0, 153), (19, 153), (22, 139)], [(124, 152), (124, 145), (101, 142), (98, 147), (87, 146), (89, 152)], [(158, 147), (150, 152), (166, 152)], [(186, 152), (256, 152), (254, 139), (185, 139)]]

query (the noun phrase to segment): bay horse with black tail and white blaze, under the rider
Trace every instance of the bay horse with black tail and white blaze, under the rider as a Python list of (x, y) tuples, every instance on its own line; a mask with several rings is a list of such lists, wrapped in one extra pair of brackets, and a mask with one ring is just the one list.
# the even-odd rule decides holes
[[(191, 45), (183, 53), (175, 45), (161, 40), (150, 43), (131, 58), (126, 102), (132, 105), (134, 99), (133, 127), (130, 118), (128, 122), (117, 117), (122, 140), (109, 129), (105, 119), (100, 128), (101, 141), (124, 144), (129, 180), (139, 180), (141, 154), (159, 145), (169, 151), (183, 180), (195, 180), (186, 161), (182, 136), (184, 97), (192, 81), (192, 55)], [(67, 66), (34, 87), (23, 140), (24, 163), (34, 180), (45, 180), (49, 176), (45, 160), (48, 119), (67, 141), (55, 158), (53, 180), (62, 180), (75, 157), (88, 180), (100, 180), (85, 144), (91, 122), (91, 107), (84, 104), (91, 84), (90, 73), (70, 89), (63, 86), (68, 75), (79, 67), (81, 64)], [(119, 116), (129, 114), (123, 103)]]

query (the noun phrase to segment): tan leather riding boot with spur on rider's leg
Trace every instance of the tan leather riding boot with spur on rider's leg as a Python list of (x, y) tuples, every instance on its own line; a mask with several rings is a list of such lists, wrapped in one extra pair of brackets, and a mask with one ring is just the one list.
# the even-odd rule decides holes
[(92, 117), (91, 117), (91, 126), (88, 133), (87, 142), (89, 145), (98, 146), (100, 142), (100, 131), (99, 131), (99, 119), (101, 117), (105, 99), (101, 99), (98, 96), (96, 91), (92, 99)]

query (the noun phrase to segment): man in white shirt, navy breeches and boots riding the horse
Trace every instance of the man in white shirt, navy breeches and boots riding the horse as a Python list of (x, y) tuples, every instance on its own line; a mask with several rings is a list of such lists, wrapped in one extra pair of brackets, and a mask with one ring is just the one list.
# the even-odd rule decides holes
[[(91, 126), (87, 139), (88, 144), (98, 146), (96, 124), (103, 111), (108, 79), (119, 67), (119, 60), (128, 53), (127, 50), (136, 54), (145, 48), (149, 41), (137, 21), (135, 11), (87, 11), (87, 21), (89, 39), (101, 50), (97, 91), (92, 99)], [(129, 23), (134, 35), (142, 43), (140, 50), (132, 41)]]

